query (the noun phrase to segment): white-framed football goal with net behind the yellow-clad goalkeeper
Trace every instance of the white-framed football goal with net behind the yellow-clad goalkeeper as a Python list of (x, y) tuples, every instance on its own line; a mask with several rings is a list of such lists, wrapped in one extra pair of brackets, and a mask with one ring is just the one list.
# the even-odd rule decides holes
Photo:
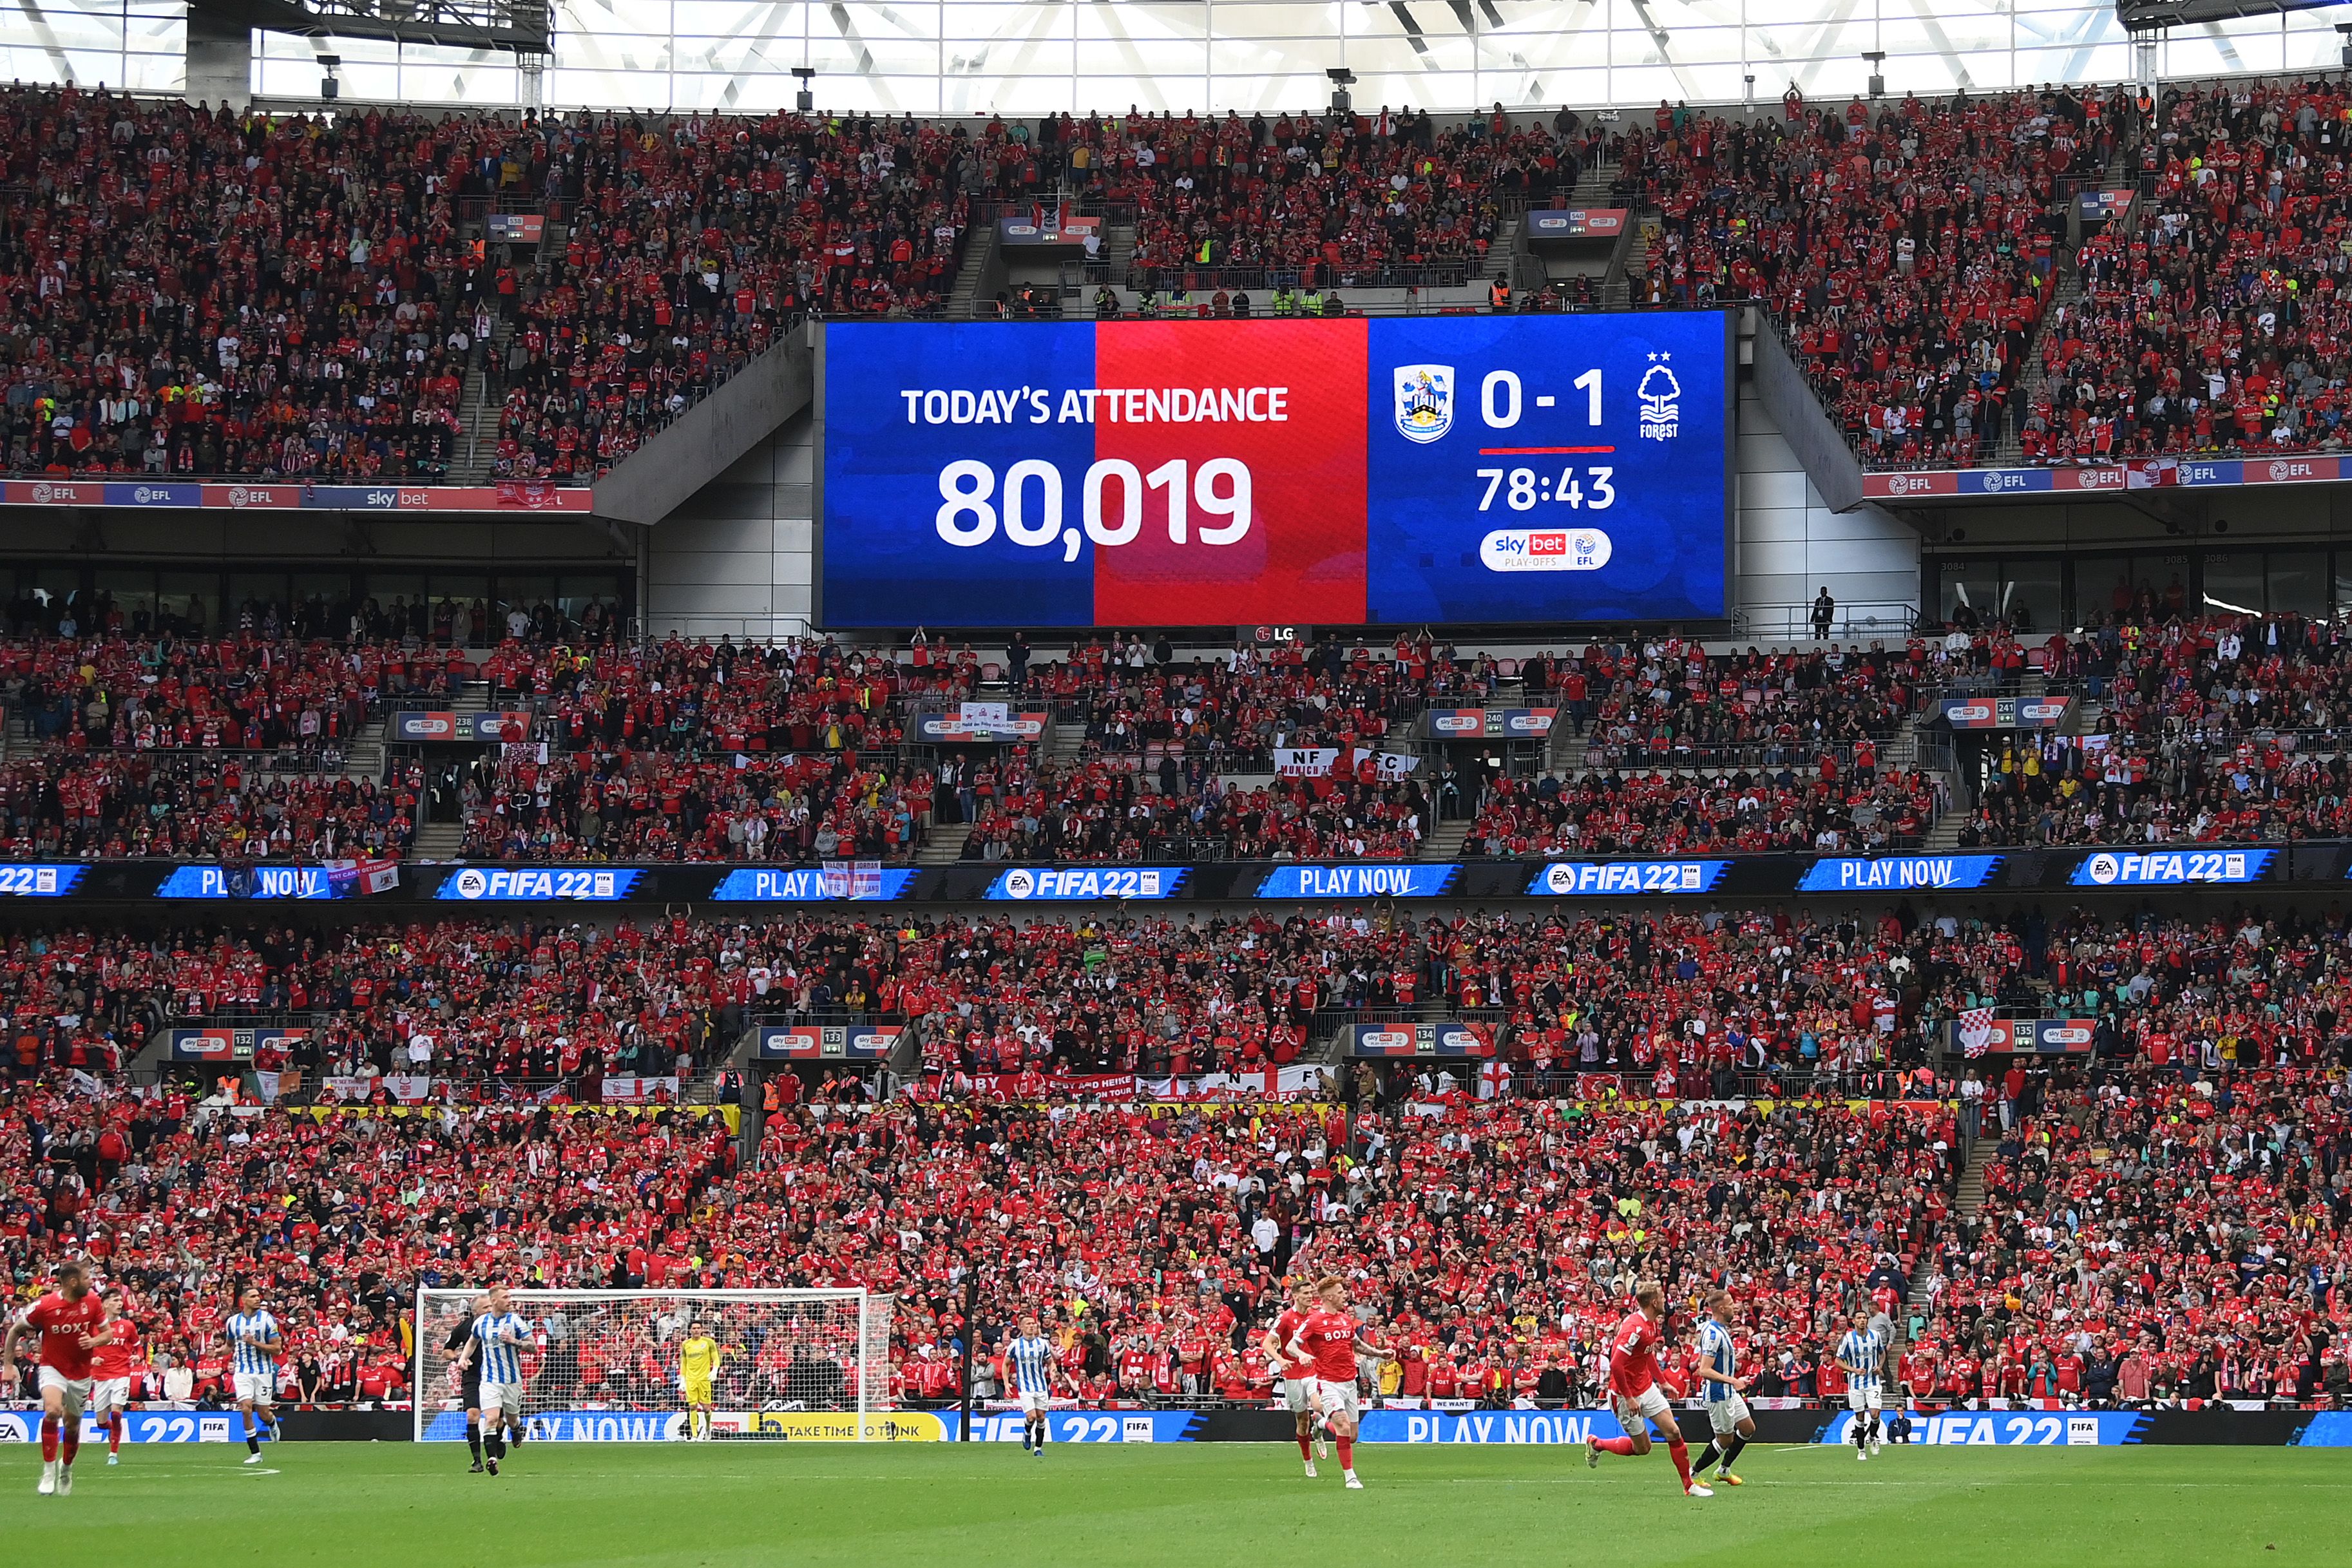
[[(891, 1298), (870, 1291), (508, 1291), (532, 1324), (522, 1352), (529, 1439), (644, 1443), (687, 1436), (682, 1345), (717, 1342), (715, 1439), (898, 1436)], [(449, 1347), (485, 1312), (480, 1291), (416, 1293), (416, 1441), (463, 1441)]]

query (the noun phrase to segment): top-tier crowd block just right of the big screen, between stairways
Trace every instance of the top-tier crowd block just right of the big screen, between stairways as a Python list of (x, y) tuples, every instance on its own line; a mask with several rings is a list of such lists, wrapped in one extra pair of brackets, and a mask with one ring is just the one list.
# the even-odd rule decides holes
[(1762, 301), (1865, 463), (1971, 463), (2013, 421), (2060, 181), (2096, 181), (2126, 108), (2122, 89), (1790, 101), (1745, 125), (1661, 108), (1616, 186), (1658, 209), (1649, 299)]

